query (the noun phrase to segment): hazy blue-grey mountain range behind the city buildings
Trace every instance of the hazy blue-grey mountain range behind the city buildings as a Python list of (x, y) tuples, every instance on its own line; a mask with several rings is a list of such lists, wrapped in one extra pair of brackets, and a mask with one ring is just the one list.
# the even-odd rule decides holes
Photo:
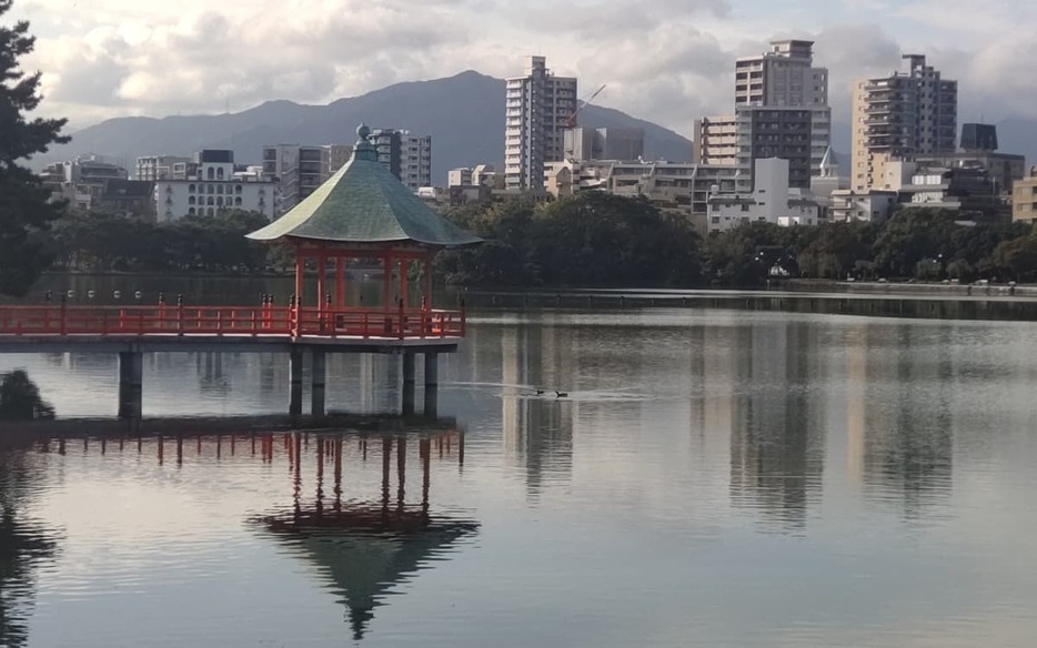
[[(49, 162), (99, 154), (132, 166), (141, 155), (193, 155), (201, 149), (232, 149), (239, 163), (259, 164), (268, 144), (352, 144), (360, 123), (432, 135), (432, 179), (445, 184), (459, 166), (504, 161), (504, 81), (467, 71), (432, 81), (397, 83), (328, 105), (268, 101), (238, 113), (115, 118), (72, 133), (68, 144), (33, 160)], [(585, 126), (640, 126), (645, 155), (687, 161), (686, 138), (608, 108), (588, 104)], [(131, 170), (132, 173), (132, 170)]]

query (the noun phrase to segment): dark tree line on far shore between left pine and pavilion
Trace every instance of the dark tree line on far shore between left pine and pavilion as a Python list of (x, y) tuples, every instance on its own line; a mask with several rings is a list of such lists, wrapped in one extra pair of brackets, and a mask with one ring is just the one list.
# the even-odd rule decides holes
[(91, 271), (263, 270), (271, 247), (245, 239), (268, 223), (262, 214), (233, 211), (188, 216), (169, 224), (90, 213), (54, 227), (57, 264)]

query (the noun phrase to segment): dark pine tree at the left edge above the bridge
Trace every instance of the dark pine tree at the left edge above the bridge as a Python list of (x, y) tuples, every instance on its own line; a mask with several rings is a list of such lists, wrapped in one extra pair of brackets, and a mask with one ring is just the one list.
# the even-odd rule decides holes
[[(0, 17), (12, 1), (0, 0)], [(40, 72), (24, 73), (18, 60), (34, 44), (28, 22), (0, 27), (0, 294), (26, 294), (47, 270), (52, 252), (40, 234), (63, 212), (40, 179), (18, 164), (69, 141), (60, 134), (66, 120), (27, 118), (40, 104)]]

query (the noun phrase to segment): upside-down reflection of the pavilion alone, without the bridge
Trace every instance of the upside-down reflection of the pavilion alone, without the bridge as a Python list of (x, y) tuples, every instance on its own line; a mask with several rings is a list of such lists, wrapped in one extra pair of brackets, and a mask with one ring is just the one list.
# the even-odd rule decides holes
[[(284, 438), (284, 447), (293, 473), (292, 509), (255, 522), (318, 567), (325, 586), (348, 608), (354, 640), (363, 639), (375, 608), (385, 604), (396, 586), (443, 559), (457, 540), (479, 528), (472, 520), (435, 515), (430, 504), (433, 458), (455, 460), (460, 468), (464, 463), (463, 433), (413, 437), (362, 434), (355, 438), (321, 434), (312, 439), (295, 433)], [(268, 452), (272, 457), (273, 448), (264, 446)], [(344, 493), (343, 469), (359, 470), (369, 460), (381, 466), (380, 488), (358, 487), (352, 494)], [(303, 493), (303, 464), (315, 474), (313, 493)], [(413, 473), (420, 470), (421, 485), (410, 497), (409, 464), (411, 483), (416, 482)], [(325, 473), (331, 474), (330, 497), (324, 490)]]

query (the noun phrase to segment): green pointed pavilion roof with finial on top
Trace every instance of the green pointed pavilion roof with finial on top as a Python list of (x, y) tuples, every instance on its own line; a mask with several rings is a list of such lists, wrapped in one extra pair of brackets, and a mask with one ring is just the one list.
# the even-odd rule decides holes
[(312, 194), (273, 223), (248, 235), (255, 241), (284, 236), (339, 243), (417, 243), (457, 247), (482, 239), (457, 227), (386, 170), (368, 141), (360, 140), (352, 159)]

